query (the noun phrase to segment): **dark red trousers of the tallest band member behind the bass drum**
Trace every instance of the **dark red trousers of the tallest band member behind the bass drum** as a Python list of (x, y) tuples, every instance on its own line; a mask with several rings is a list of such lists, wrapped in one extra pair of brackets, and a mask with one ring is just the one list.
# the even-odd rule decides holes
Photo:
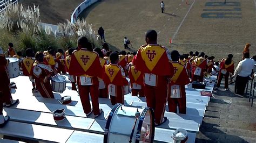
[(145, 84), (145, 96), (147, 106), (154, 109), (155, 123), (163, 122), (165, 105), (167, 102), (167, 79), (163, 76), (158, 76), (157, 87), (152, 87)]

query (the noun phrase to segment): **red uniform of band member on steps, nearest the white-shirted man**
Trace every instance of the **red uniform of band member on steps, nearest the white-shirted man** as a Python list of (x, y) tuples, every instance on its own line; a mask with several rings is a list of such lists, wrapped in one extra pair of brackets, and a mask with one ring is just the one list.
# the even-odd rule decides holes
[(218, 81), (217, 81), (217, 87), (220, 87), (220, 83), (221, 80), (225, 79), (225, 83), (224, 83), (224, 88), (227, 89), (228, 88), (228, 77), (230, 76), (230, 73), (233, 74), (234, 73), (234, 62), (233, 60), (231, 61), (230, 65), (226, 65), (225, 61), (227, 59), (223, 58), (220, 62), (220, 71), (219, 71), (219, 75), (218, 75)]

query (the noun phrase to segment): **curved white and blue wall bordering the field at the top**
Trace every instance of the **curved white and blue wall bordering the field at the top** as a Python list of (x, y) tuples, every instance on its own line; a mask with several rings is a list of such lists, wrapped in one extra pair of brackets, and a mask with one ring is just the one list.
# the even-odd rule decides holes
[(71, 23), (75, 23), (80, 13), (82, 13), (86, 8), (88, 8), (93, 3), (96, 3), (100, 0), (85, 0), (84, 2), (80, 3), (77, 8), (73, 11), (71, 15)]

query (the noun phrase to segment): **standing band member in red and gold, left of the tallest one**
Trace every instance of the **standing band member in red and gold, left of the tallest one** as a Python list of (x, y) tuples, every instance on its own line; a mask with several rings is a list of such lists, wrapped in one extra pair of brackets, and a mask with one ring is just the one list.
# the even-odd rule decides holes
[[(89, 116), (92, 112), (95, 117), (102, 113), (99, 109), (99, 80), (102, 76), (99, 56), (93, 52), (86, 37), (77, 40), (78, 50), (71, 56), (69, 73), (77, 76), (77, 85), (84, 113)], [(92, 99), (92, 108), (89, 94)]]

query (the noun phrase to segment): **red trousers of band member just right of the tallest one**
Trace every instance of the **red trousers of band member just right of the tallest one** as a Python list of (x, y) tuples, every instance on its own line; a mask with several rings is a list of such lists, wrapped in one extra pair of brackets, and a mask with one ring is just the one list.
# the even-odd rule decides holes
[(168, 98), (169, 112), (177, 113), (177, 106), (179, 107), (179, 113), (186, 114), (186, 97)]

